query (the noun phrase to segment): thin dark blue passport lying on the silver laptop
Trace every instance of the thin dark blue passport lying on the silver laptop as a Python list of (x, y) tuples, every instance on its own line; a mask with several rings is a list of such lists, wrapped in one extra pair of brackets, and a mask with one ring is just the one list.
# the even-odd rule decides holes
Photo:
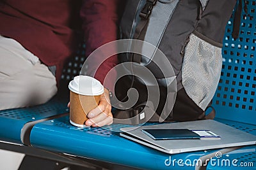
[(150, 138), (159, 139), (200, 139), (200, 136), (189, 129), (142, 129)]

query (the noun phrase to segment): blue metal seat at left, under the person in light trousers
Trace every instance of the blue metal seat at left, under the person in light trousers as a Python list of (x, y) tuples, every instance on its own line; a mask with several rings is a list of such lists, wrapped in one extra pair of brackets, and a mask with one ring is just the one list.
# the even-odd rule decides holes
[[(29, 144), (31, 125), (69, 112), (67, 103), (54, 98), (46, 104), (29, 108), (0, 111), (0, 141)], [(30, 128), (30, 129), (29, 129)]]

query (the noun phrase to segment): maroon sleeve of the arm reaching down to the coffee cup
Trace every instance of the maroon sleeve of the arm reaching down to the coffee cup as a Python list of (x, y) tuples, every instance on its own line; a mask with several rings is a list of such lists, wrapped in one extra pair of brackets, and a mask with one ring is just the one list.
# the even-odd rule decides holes
[[(86, 43), (86, 56), (100, 46), (117, 39), (117, 14), (118, 0), (85, 0), (80, 11), (83, 20), (84, 39)], [(104, 53), (102, 53), (104, 55)], [(111, 72), (111, 78), (106, 78), (109, 70), (116, 66), (117, 56), (113, 55), (98, 68), (97, 62), (102, 55), (93, 55), (93, 60), (88, 62), (87, 74), (99, 80), (104, 87), (113, 91), (116, 71)], [(95, 62), (96, 61), (96, 62)], [(97, 69), (95, 75), (93, 75)]]

